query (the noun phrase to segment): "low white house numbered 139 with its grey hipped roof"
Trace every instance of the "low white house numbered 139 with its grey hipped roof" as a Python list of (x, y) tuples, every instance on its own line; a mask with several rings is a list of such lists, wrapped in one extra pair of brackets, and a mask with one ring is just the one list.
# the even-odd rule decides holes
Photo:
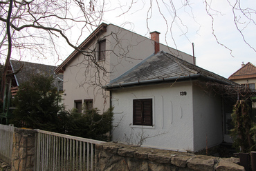
[(167, 52), (152, 54), (104, 86), (114, 107), (113, 141), (192, 152), (230, 142), (223, 115), (232, 107), (215, 84), (237, 86)]

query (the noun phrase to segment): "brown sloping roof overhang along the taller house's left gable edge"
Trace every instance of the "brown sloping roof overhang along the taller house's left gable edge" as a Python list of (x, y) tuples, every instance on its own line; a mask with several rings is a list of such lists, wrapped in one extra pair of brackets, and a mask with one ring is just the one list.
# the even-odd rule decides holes
[(90, 43), (95, 36), (97, 36), (98, 34), (100, 34), (101, 32), (107, 32), (107, 23), (102, 23), (100, 24), (100, 26), (98, 26), (98, 28), (96, 28), (93, 33), (91, 33), (89, 35), (89, 37), (87, 37), (81, 44), (80, 46), (78, 46), (77, 50), (74, 50), (66, 59), (65, 61), (62, 62), (62, 64), (60, 64), (60, 66), (58, 66), (55, 70), (56, 73), (63, 73), (66, 66), (68, 65), (69, 62), (71, 62), (73, 60), (74, 57), (76, 57), (77, 54), (80, 53), (79, 49), (82, 50), (83, 48), (86, 47), (86, 45), (88, 43)]

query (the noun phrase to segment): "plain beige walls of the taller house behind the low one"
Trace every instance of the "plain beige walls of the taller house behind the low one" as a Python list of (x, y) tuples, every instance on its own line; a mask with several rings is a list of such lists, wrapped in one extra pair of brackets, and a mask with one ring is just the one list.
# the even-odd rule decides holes
[[(97, 71), (93, 63), (89, 63), (87, 57), (82, 54), (77, 55), (68, 63), (64, 71), (64, 104), (67, 109), (75, 106), (74, 100), (93, 99), (93, 107), (100, 111), (109, 108), (109, 92), (102, 90), (111, 79), (115, 79), (143, 59), (146, 59), (154, 53), (154, 41), (147, 37), (140, 36), (129, 30), (125, 30), (109, 24), (107, 32), (104, 32), (100, 39), (106, 39), (107, 56), (105, 61), (99, 61), (98, 64), (104, 67), (108, 74), (100, 73), (95, 77)], [(91, 42), (87, 48), (94, 49), (98, 39)], [(161, 44), (160, 50), (165, 52), (172, 51), (172, 54), (178, 54), (177, 50), (167, 48)], [(193, 62), (192, 56), (179, 52), (179, 56), (186, 61)], [(96, 78), (96, 79), (95, 79)], [(100, 79), (99, 79), (100, 78)], [(101, 83), (100, 86), (99, 82)]]

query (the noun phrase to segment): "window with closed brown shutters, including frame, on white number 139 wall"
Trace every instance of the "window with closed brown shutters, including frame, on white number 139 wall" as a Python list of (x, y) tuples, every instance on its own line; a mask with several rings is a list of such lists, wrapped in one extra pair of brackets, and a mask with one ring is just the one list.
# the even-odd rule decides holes
[[(132, 118), (132, 125), (134, 126), (154, 126), (154, 101), (153, 98), (147, 98), (147, 99), (133, 99), (133, 118)], [(145, 106), (146, 105), (146, 106)], [(149, 106), (148, 106), (149, 105)], [(136, 110), (137, 108), (137, 110)], [(138, 121), (138, 114), (136, 112), (141, 111), (141, 119)], [(148, 114), (149, 112), (149, 114)], [(146, 116), (145, 116), (146, 114)], [(150, 116), (149, 116), (150, 115)], [(150, 120), (150, 121), (145, 121)], [(136, 121), (137, 120), (137, 121)]]

